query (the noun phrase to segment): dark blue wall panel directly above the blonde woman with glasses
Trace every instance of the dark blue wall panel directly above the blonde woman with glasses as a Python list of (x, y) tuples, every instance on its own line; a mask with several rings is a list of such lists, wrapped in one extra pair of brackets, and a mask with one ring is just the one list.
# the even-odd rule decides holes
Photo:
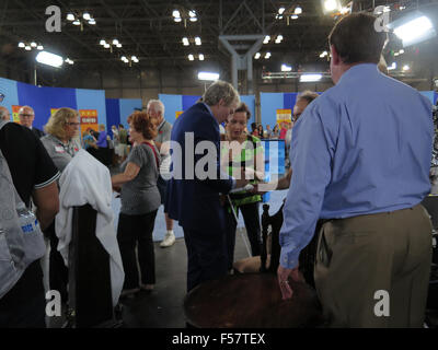
[(20, 105), (30, 105), (35, 110), (35, 128), (43, 130), (51, 108), (78, 109), (74, 89), (38, 88), (21, 82), (18, 82), (16, 86)]

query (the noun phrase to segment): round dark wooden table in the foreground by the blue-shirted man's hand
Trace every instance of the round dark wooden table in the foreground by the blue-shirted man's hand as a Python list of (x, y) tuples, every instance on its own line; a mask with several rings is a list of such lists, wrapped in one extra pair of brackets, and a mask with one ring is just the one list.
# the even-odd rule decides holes
[(242, 273), (205, 282), (184, 300), (189, 325), (197, 328), (297, 328), (322, 324), (315, 291), (290, 281), (293, 296), (281, 300), (274, 273)]

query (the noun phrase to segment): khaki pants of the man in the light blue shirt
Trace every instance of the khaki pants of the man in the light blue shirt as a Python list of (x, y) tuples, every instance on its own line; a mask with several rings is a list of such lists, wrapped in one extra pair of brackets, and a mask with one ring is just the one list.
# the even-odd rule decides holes
[(330, 327), (423, 327), (431, 224), (420, 206), (335, 219), (320, 234), (314, 270)]

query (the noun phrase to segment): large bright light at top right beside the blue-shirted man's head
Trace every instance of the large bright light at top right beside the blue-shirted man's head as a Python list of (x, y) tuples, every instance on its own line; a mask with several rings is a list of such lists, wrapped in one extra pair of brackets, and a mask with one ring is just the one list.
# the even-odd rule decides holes
[[(433, 23), (425, 15), (417, 16), (408, 22), (403, 21), (404, 23), (401, 21), (403, 20), (391, 23), (389, 26), (394, 28), (395, 35), (403, 40), (404, 47), (427, 40), (436, 35)], [(397, 25), (399, 23), (403, 24)]]

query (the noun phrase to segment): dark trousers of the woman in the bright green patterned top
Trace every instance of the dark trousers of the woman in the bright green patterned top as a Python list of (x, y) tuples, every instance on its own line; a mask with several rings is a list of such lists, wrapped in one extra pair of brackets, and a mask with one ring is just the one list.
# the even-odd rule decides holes
[[(232, 268), (234, 260), (234, 246), (235, 246), (235, 229), (238, 223), (229, 207), (224, 208), (227, 218), (227, 252), (228, 252), (228, 268)], [(243, 221), (246, 228), (247, 238), (251, 245), (251, 255), (258, 256), (262, 254), (262, 238), (261, 238), (261, 223), (258, 215), (258, 202), (244, 205), (238, 208), (242, 212)]]

